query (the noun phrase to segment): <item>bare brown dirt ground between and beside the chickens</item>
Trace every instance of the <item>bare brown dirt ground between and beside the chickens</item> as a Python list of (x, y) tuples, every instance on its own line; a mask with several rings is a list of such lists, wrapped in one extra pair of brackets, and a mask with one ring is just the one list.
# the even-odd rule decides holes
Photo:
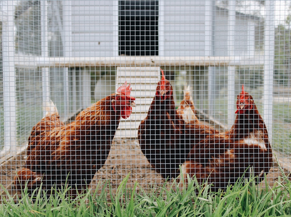
[[(25, 158), (24, 151), (1, 165), (1, 185), (3, 186), (2, 188), (7, 189), (10, 194), (16, 193), (11, 186), (11, 182), (14, 179), (16, 171), (19, 170), (21, 166), (25, 165)], [(279, 158), (279, 160), (280, 159), (283, 158)], [(274, 167), (271, 168), (267, 175), (267, 185), (269, 186), (273, 186), (278, 180), (278, 176), (281, 174), (276, 165), (277, 163), (274, 163)], [(281, 162), (280, 165), (283, 166), (287, 174), (288, 168), (291, 168), (290, 165), (283, 162)], [(121, 140), (119, 138), (114, 138), (107, 161), (96, 173), (89, 188), (92, 188), (92, 190), (98, 188), (98, 190), (101, 191), (104, 185), (98, 186), (100, 180), (108, 180), (106, 188), (109, 189), (109, 185), (111, 185), (111, 189), (114, 193), (128, 174), (129, 179), (127, 181), (127, 187), (133, 187), (134, 183), (137, 181), (144, 190), (152, 190), (152, 188), (160, 186), (165, 182), (165, 179), (162, 179), (161, 176), (151, 168), (140, 150), (138, 140)], [(171, 181), (172, 180), (169, 180), (168, 182), (171, 183)], [(265, 180), (260, 185), (265, 186)], [(5, 193), (2, 192), (2, 195), (5, 195)]]

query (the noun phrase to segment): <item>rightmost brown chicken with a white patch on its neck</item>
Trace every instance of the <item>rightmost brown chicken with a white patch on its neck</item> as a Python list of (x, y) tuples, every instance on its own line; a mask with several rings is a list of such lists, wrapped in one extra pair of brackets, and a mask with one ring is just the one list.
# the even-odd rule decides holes
[(235, 113), (235, 123), (229, 131), (207, 136), (191, 149), (189, 160), (181, 166), (186, 183), (187, 174), (195, 175), (200, 184), (208, 178), (212, 191), (219, 191), (243, 175), (250, 177), (251, 171), (258, 176), (257, 182), (269, 172), (273, 155), (267, 128), (244, 87), (237, 96)]

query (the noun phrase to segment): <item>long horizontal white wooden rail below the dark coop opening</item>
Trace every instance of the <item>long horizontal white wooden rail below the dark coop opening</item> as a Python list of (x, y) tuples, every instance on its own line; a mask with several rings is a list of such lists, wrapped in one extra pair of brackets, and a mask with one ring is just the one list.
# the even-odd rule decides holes
[(148, 66), (148, 65), (263, 65), (262, 58), (229, 56), (107, 56), (107, 57), (15, 57), (15, 66), (84, 67), (84, 66)]

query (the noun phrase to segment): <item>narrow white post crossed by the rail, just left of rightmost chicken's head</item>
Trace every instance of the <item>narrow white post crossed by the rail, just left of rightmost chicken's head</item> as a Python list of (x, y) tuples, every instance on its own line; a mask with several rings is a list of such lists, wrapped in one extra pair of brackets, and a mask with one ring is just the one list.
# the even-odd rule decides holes
[[(229, 1), (229, 56), (234, 57), (235, 43), (235, 0)], [(230, 128), (235, 120), (235, 66), (228, 67), (228, 128)]]

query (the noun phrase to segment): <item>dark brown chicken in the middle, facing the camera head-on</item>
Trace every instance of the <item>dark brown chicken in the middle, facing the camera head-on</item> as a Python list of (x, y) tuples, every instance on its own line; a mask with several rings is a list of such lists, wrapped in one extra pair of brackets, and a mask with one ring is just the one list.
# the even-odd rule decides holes
[(214, 133), (218, 131), (196, 120), (190, 120), (189, 124), (184, 122), (175, 108), (173, 88), (162, 71), (148, 115), (138, 129), (141, 151), (151, 166), (164, 178), (177, 177), (191, 146)]

